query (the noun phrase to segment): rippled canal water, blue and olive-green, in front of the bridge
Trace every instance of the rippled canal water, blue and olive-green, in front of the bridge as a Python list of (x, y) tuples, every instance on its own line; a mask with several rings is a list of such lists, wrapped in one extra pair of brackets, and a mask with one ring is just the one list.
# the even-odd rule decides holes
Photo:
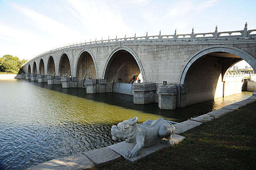
[(0, 169), (24, 170), (58, 157), (114, 144), (111, 126), (137, 116), (177, 122), (250, 97), (243, 92), (175, 110), (133, 104), (125, 94), (0, 79)]

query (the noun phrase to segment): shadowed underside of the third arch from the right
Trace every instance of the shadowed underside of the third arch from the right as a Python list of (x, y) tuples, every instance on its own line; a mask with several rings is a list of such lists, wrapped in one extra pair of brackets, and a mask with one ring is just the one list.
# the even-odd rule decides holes
[(75, 76), (78, 78), (78, 87), (84, 87), (85, 79), (97, 78), (95, 64), (93, 62), (91, 54), (86, 51), (79, 56)]

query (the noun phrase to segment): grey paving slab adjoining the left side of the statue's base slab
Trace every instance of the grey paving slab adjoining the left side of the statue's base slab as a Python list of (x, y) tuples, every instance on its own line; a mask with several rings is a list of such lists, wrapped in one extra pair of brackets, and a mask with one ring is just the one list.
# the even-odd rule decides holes
[(86, 151), (83, 154), (85, 154), (95, 165), (103, 165), (121, 159), (121, 155), (115, 153), (108, 147)]

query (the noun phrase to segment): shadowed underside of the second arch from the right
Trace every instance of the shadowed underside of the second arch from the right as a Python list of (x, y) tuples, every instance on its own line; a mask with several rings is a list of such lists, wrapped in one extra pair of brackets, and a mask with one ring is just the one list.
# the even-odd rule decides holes
[(105, 71), (105, 79), (107, 79), (106, 92), (113, 90), (113, 83), (129, 84), (132, 78), (140, 73), (141, 70), (136, 60), (128, 51), (116, 51), (111, 56)]

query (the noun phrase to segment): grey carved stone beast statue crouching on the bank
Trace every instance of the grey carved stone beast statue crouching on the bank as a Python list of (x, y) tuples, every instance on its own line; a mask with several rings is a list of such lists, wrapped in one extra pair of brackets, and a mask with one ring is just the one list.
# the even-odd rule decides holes
[(124, 120), (113, 125), (111, 128), (112, 139), (123, 139), (126, 142), (135, 142), (132, 151), (128, 151), (125, 155), (128, 158), (137, 156), (141, 148), (149, 147), (161, 141), (162, 143), (170, 144), (174, 126), (171, 126), (166, 120), (159, 118), (157, 120), (148, 119), (142, 124), (137, 124), (138, 117)]

